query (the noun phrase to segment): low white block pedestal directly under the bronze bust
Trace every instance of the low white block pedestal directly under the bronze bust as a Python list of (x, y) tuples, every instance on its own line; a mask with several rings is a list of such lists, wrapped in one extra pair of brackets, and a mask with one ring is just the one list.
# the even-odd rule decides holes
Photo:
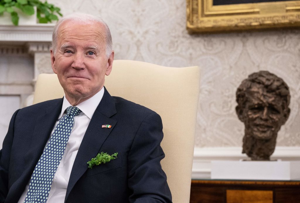
[(211, 161), (211, 179), (300, 179), (300, 161)]

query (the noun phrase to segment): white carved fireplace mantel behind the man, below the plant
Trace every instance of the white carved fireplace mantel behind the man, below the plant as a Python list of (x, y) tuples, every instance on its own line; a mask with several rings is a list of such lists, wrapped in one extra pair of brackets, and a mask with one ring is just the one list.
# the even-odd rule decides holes
[(28, 105), (26, 98), (34, 91), (37, 76), (52, 73), (49, 50), (54, 25), (0, 25), (0, 96), (19, 95), (19, 107)]

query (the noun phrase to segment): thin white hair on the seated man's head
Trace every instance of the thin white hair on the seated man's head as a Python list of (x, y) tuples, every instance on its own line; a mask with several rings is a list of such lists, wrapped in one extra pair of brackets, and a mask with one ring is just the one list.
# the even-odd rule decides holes
[(113, 51), (113, 41), (112, 41), (112, 36), (110, 34), (110, 29), (108, 28), (107, 24), (99, 17), (86, 14), (86, 13), (71, 13), (67, 16), (62, 17), (54, 26), (53, 34), (52, 34), (52, 43), (51, 43), (51, 49), (56, 53), (56, 48), (57, 48), (57, 38), (58, 38), (58, 29), (59, 26), (61, 25), (62, 22), (70, 20), (70, 21), (75, 21), (79, 23), (84, 23), (84, 24), (91, 24), (94, 22), (100, 22), (102, 25), (104, 25), (105, 28), (105, 34), (106, 34), (106, 47), (105, 47), (105, 53), (107, 57), (110, 57), (110, 54)]

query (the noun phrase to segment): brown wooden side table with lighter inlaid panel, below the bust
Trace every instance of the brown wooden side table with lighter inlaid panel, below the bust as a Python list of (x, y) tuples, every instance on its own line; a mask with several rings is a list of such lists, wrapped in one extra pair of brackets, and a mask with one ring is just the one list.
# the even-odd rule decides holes
[(190, 203), (300, 203), (300, 181), (192, 180)]

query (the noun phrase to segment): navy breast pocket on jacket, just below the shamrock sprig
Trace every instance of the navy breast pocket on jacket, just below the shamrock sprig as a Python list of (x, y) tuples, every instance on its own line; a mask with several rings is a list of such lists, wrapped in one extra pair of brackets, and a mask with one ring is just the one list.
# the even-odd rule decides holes
[(108, 172), (114, 169), (119, 169), (122, 167), (122, 158), (118, 157), (117, 159), (110, 160), (107, 163), (101, 163), (98, 166), (93, 166), (92, 169), (88, 168), (86, 171), (86, 176), (97, 175), (99, 173)]

